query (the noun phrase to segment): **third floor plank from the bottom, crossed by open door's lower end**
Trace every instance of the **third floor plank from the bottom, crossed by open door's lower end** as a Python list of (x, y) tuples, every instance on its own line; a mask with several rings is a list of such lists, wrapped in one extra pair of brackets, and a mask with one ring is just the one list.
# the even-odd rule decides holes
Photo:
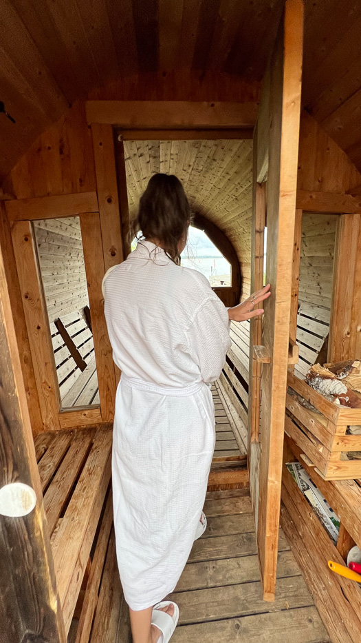
[[(292, 551), (278, 552), (277, 575), (279, 578), (300, 575), (300, 569)], [(259, 580), (259, 560), (256, 554), (205, 562), (189, 562), (179, 578), (175, 591), (221, 587), (257, 580)]]

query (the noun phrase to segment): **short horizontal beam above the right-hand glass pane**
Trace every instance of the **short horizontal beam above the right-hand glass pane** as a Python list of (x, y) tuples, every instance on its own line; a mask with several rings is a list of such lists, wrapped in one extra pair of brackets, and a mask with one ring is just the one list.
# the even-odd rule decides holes
[(309, 192), (297, 190), (296, 207), (308, 212), (331, 212), (333, 214), (358, 214), (361, 212), (361, 198), (336, 192)]

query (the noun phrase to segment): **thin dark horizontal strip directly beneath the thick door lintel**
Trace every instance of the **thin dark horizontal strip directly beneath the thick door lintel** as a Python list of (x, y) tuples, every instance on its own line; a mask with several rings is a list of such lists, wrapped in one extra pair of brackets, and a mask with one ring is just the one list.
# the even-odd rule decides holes
[(123, 141), (217, 141), (219, 139), (253, 139), (253, 128), (232, 130), (120, 130)]

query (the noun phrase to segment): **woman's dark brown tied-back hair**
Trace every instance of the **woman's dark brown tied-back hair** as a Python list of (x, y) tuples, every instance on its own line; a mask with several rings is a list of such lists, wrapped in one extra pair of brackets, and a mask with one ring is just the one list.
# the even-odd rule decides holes
[(190, 220), (188, 198), (179, 178), (174, 174), (153, 174), (140, 198), (133, 224), (137, 238), (159, 239), (168, 257), (180, 263), (177, 245)]

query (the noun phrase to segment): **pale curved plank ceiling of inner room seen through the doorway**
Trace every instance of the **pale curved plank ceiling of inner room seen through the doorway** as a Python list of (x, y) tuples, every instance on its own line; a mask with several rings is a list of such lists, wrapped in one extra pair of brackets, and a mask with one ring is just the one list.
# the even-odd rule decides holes
[[(124, 141), (129, 214), (155, 172), (175, 174), (195, 212), (228, 236), (250, 280), (252, 141)], [(247, 289), (247, 287), (246, 287)]]

